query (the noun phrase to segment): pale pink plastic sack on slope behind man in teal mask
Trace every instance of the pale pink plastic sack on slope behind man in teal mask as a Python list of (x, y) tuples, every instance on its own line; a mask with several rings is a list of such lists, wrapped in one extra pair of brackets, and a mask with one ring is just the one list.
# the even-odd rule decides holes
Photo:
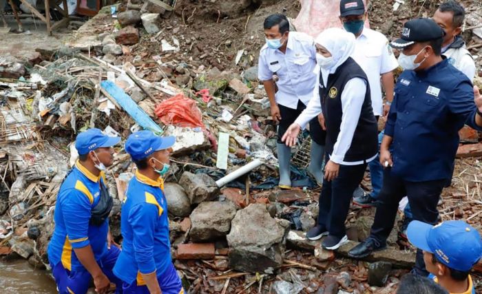
[[(340, 0), (300, 0), (302, 8), (294, 21), (298, 32), (306, 32), (316, 38), (327, 28), (342, 28), (339, 21)], [(364, 0), (365, 8), (368, 1)], [(365, 27), (370, 28), (368, 18)]]

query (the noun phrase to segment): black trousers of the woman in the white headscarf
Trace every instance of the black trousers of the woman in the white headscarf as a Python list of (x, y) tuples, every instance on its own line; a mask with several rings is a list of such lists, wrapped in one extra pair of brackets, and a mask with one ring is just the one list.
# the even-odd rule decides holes
[[(325, 162), (329, 156), (326, 155)], [(330, 235), (343, 238), (346, 234), (345, 220), (350, 209), (353, 191), (358, 187), (365, 173), (366, 163), (362, 165), (340, 165), (335, 180), (323, 180), (319, 194), (318, 224), (328, 229)]]

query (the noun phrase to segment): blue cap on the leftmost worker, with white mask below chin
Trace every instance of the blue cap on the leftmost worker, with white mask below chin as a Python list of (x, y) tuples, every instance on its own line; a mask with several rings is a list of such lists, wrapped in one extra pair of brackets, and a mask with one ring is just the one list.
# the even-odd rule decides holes
[(100, 129), (87, 129), (77, 135), (75, 149), (79, 155), (84, 155), (97, 148), (112, 147), (121, 142), (120, 137), (109, 137)]

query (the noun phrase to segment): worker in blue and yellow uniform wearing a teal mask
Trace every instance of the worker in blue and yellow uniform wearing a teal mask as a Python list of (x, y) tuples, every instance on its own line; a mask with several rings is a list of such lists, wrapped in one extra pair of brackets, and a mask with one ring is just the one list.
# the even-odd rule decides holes
[[(174, 137), (159, 137), (150, 131), (135, 132), (125, 151), (137, 166), (129, 182), (121, 211), (123, 251), (114, 273), (123, 280), (128, 294), (184, 293), (172, 264), (164, 176)], [(161, 292), (162, 291), (162, 292)]]

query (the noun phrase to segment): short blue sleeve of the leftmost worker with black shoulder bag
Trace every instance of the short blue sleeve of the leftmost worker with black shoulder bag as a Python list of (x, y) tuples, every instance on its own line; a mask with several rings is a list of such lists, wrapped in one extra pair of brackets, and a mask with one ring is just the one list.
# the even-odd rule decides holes
[(66, 190), (69, 195), (63, 198), (62, 213), (65, 228), (72, 248), (83, 248), (90, 244), (88, 238), (91, 204), (89, 198), (76, 189)]

